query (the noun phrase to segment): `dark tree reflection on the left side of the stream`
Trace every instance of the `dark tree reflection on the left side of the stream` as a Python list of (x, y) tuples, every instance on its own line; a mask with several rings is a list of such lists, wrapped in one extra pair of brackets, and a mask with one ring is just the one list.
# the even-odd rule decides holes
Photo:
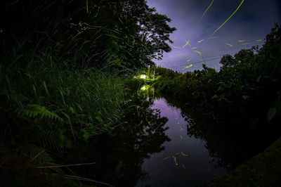
[(69, 154), (72, 163), (96, 162), (73, 168), (74, 174), (115, 186), (135, 186), (136, 181), (150, 178), (150, 173), (142, 169), (143, 161), (161, 153), (162, 144), (171, 141), (165, 134), (168, 119), (161, 117), (159, 110), (150, 108), (152, 101), (132, 100), (122, 129), (116, 129), (111, 136), (95, 136), (87, 145), (82, 142)]

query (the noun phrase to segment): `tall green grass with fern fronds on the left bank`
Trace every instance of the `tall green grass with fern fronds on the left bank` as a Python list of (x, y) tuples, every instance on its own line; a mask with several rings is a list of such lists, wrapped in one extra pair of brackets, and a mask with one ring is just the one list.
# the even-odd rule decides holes
[(41, 150), (62, 153), (80, 139), (119, 125), (123, 80), (94, 68), (73, 69), (60, 60), (48, 50), (20, 47), (1, 54), (0, 144), (32, 161), (44, 161)]

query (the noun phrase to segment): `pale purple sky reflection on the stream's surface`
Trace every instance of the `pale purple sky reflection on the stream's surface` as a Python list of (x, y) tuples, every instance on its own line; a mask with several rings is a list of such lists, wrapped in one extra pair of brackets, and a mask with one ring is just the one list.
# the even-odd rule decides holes
[(142, 169), (150, 179), (139, 180), (136, 186), (195, 186), (226, 173), (224, 167), (212, 162), (205, 141), (188, 136), (188, 122), (181, 109), (167, 104), (164, 98), (155, 100), (151, 108), (159, 109), (161, 116), (168, 118), (164, 127), (169, 127), (165, 134), (171, 141), (162, 144), (162, 152), (144, 160)]

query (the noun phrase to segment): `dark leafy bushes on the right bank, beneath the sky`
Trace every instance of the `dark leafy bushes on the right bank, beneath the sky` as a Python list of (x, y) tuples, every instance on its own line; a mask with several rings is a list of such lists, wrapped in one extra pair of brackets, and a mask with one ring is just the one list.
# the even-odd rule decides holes
[(223, 56), (219, 72), (206, 65), (201, 71), (185, 74), (157, 67), (161, 77), (154, 87), (209, 115), (217, 124), (280, 128), (280, 42), (281, 29), (276, 25), (261, 49), (253, 47), (234, 57)]

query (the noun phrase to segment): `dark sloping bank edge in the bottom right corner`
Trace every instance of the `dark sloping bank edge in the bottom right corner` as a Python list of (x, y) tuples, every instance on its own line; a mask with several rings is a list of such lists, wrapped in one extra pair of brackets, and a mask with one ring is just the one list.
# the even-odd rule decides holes
[(202, 185), (211, 186), (280, 186), (281, 185), (281, 138), (262, 153), (252, 157), (227, 174)]

